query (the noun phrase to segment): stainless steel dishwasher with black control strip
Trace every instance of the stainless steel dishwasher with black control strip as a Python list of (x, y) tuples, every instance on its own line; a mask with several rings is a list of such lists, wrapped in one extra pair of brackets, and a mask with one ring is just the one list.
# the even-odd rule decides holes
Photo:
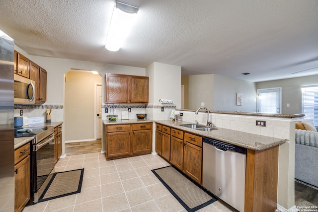
[(203, 138), (203, 187), (244, 211), (246, 148)]

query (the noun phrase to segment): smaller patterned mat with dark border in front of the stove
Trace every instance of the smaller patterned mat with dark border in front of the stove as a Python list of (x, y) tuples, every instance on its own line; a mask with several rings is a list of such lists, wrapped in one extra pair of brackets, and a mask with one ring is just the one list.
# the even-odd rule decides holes
[(54, 173), (38, 202), (80, 193), (84, 169)]

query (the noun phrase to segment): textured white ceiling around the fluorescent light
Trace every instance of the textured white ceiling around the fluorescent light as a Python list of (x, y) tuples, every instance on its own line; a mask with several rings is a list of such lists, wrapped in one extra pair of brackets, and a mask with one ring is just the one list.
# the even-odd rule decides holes
[(115, 0), (0, 0), (0, 30), (30, 55), (249, 81), (318, 74), (318, 0), (121, 1), (139, 12), (118, 52), (104, 47)]

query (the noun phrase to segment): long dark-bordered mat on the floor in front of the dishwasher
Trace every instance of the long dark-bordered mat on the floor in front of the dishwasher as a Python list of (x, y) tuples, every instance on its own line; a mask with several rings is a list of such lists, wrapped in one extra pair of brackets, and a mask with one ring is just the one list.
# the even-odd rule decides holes
[(195, 212), (218, 200), (173, 166), (152, 171), (188, 212)]

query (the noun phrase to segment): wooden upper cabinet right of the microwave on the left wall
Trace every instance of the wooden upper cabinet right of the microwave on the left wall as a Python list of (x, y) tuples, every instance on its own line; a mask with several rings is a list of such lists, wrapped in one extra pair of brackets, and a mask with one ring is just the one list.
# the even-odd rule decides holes
[(33, 63), (30, 62), (30, 79), (35, 82), (35, 102), (46, 101), (46, 71)]

